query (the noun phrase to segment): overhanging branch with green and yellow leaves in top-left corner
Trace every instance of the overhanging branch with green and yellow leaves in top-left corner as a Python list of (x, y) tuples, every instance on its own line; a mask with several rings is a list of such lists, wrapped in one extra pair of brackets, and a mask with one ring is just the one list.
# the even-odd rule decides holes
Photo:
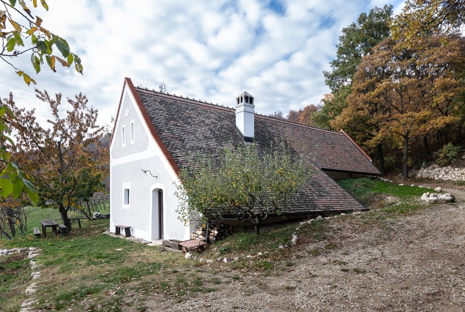
[[(37, 0), (31, 0), (34, 8), (37, 8)], [(45, 0), (40, 0), (42, 7), (48, 11)], [(83, 66), (78, 55), (70, 51), (69, 45), (62, 37), (57, 36), (44, 28), (43, 20), (34, 15), (24, 0), (0, 0), (0, 38), (2, 47), (0, 59), (8, 63), (22, 76), (29, 86), (36, 81), (22, 69), (16, 67), (8, 59), (19, 57), (25, 53), (31, 53), (31, 63), (36, 73), (41, 71), (44, 62), (54, 72), (56, 63), (64, 67), (74, 64), (77, 72), (83, 73)], [(45, 61), (44, 61), (45, 59)]]

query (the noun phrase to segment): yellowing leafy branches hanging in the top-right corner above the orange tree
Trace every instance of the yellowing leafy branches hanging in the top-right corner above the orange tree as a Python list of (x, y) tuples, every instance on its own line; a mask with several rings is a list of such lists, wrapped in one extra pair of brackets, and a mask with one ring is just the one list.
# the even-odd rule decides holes
[(407, 43), (418, 36), (455, 32), (465, 24), (465, 0), (407, 0), (392, 30)]

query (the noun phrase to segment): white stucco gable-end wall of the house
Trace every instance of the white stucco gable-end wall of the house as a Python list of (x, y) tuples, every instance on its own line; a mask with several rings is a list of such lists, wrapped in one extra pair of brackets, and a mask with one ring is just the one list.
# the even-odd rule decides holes
[[(159, 239), (158, 192), (163, 190), (164, 239), (190, 239), (192, 225), (177, 219), (178, 200), (173, 181), (177, 176), (148, 132), (142, 114), (126, 88), (118, 112), (115, 134), (110, 146), (110, 230), (115, 224), (131, 226), (131, 235), (152, 241)], [(131, 144), (130, 122), (135, 137)], [(122, 144), (121, 126), (125, 125), (126, 144)], [(149, 170), (142, 173), (141, 169)], [(124, 188), (129, 188), (129, 205), (123, 204)]]

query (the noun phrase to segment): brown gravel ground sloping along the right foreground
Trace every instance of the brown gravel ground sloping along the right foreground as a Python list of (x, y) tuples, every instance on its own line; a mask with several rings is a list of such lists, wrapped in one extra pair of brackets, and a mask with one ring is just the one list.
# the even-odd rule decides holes
[(300, 242), (287, 266), (183, 302), (155, 295), (145, 305), (199, 312), (465, 311), (465, 191), (447, 190), (456, 203), (372, 227), (363, 214), (332, 219), (330, 238)]

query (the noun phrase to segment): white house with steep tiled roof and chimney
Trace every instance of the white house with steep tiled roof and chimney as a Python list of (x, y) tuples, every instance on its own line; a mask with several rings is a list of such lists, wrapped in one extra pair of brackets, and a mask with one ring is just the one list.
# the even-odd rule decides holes
[(243, 140), (269, 147), (284, 136), (317, 167), (285, 214), (366, 209), (333, 180), (380, 174), (347, 134), (255, 114), (247, 92), (231, 102), (235, 109), (134, 87), (125, 79), (110, 143), (112, 231), (122, 224), (148, 241), (190, 239), (194, 225), (178, 220), (174, 196), (180, 168), (196, 165), (190, 155)]

